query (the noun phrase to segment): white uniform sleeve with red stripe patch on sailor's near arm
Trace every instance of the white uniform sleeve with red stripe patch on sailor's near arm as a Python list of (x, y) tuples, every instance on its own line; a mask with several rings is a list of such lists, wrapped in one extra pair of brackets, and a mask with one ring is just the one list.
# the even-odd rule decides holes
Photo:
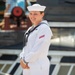
[(39, 55), (44, 52), (45, 47), (49, 47), (52, 33), (48, 28), (43, 28), (38, 32), (36, 41), (31, 52), (25, 56), (26, 62), (34, 62), (39, 58)]

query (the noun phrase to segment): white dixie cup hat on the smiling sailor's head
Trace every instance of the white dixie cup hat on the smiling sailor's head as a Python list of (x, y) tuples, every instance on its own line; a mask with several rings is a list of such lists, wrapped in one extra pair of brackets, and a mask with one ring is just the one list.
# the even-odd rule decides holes
[(28, 11), (44, 11), (46, 6), (42, 6), (40, 4), (33, 4), (32, 6), (28, 6)]

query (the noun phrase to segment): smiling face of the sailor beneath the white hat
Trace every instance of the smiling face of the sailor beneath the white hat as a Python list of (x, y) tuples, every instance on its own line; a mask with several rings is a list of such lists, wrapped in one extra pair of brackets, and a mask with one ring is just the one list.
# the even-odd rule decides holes
[(38, 24), (42, 20), (44, 13), (40, 11), (30, 11), (29, 18), (33, 24)]

